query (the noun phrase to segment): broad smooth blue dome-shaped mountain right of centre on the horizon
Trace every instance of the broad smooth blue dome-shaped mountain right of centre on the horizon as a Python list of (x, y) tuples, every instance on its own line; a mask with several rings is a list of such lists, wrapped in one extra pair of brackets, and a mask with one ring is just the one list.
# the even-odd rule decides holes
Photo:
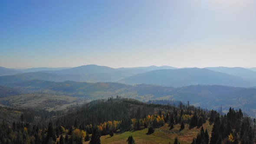
[(172, 87), (187, 85), (228, 85), (236, 87), (253, 86), (247, 80), (209, 69), (161, 69), (134, 75), (118, 82), (125, 84), (153, 84)]

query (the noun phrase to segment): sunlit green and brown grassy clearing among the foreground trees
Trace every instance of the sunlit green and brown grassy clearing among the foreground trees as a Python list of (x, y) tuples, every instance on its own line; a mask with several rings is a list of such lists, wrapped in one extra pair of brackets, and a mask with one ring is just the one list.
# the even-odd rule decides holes
[[(203, 124), (204, 130), (207, 128), (207, 131), (210, 133), (212, 131), (213, 124), (209, 124), (207, 121)], [(140, 130), (140, 131), (127, 131), (124, 133), (115, 133), (113, 137), (109, 135), (102, 136), (101, 143), (102, 144), (126, 144), (126, 140), (130, 135), (135, 140), (136, 144), (173, 144), (174, 138), (177, 137), (181, 144), (191, 144), (193, 137), (197, 137), (197, 133), (200, 132), (200, 128), (189, 128), (189, 125), (186, 124), (184, 130), (180, 131), (181, 125), (174, 125), (174, 129), (169, 130), (167, 124), (160, 128), (156, 128), (153, 134), (148, 135), (148, 128)], [(83, 144), (89, 144), (89, 141), (84, 142)]]

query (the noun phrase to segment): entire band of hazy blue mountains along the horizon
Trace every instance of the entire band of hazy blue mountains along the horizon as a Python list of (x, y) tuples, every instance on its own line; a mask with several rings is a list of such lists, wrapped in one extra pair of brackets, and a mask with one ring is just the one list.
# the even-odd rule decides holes
[[(1, 68), (0, 85), (33, 79), (53, 82), (120, 82), (124, 84), (153, 84), (171, 87), (187, 85), (227, 85), (253, 87), (256, 85), (256, 72), (240, 67), (207, 67), (178, 69), (171, 66), (148, 66), (135, 68), (110, 68), (99, 65), (83, 65), (75, 68), (35, 68), (22, 73), (14, 69)], [(24, 71), (23, 71), (24, 72)], [(14, 75), (13, 75), (14, 74)]]

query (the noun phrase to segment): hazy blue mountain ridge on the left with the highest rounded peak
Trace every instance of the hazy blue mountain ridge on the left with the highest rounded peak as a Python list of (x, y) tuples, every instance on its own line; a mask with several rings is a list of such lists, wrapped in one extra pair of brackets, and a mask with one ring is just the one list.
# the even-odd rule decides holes
[[(143, 68), (143, 69), (142, 69)], [(47, 70), (39, 72), (18, 73), (17, 75), (0, 77), (0, 85), (22, 82), (32, 79), (48, 80), (54, 82), (116, 82), (138, 73), (148, 72), (151, 69), (173, 68), (168, 66), (150, 66), (142, 68), (114, 69), (99, 65), (82, 65), (70, 69)], [(39, 70), (40, 68), (35, 68)], [(45, 68), (42, 68), (45, 69)], [(47, 68), (48, 69), (48, 68)], [(55, 69), (55, 68), (51, 68)], [(30, 69), (31, 70), (31, 69)], [(32, 69), (34, 70), (34, 69)]]

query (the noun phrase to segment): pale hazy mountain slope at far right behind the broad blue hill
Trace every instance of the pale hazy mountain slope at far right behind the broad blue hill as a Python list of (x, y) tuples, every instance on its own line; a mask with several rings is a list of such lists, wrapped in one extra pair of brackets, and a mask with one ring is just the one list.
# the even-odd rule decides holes
[(239, 76), (244, 79), (251, 79), (256, 80), (256, 72), (250, 69), (244, 69), (241, 67), (234, 67), (234, 68), (228, 68), (228, 67), (207, 67), (205, 69), (210, 69), (215, 72), (223, 72), (230, 75)]

